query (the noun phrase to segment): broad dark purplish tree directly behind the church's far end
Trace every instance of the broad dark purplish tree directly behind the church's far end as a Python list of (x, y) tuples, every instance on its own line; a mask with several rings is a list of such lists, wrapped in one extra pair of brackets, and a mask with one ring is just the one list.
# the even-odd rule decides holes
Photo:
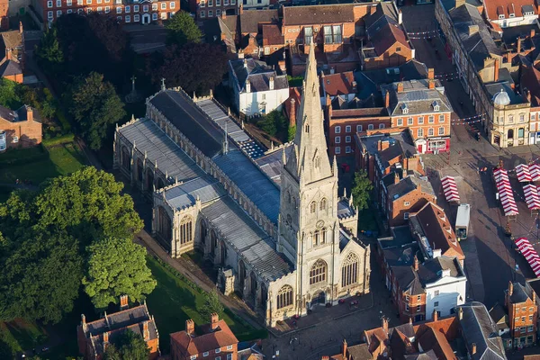
[(220, 84), (227, 71), (227, 56), (218, 45), (171, 45), (166, 47), (163, 54), (155, 55), (147, 71), (155, 84), (159, 84), (163, 77), (168, 87), (182, 86), (188, 94), (207, 94)]

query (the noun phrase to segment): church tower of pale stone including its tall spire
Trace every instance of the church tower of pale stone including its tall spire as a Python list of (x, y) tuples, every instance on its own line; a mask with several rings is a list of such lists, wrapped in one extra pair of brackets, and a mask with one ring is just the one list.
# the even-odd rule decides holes
[[(310, 47), (296, 119), (293, 151), (284, 160), (278, 251), (296, 270), (297, 306), (312, 302), (308, 293), (334, 293), (339, 256), (338, 167), (331, 165), (320, 106), (314, 46)], [(331, 295), (330, 295), (331, 296)], [(329, 301), (323, 299), (321, 301)]]

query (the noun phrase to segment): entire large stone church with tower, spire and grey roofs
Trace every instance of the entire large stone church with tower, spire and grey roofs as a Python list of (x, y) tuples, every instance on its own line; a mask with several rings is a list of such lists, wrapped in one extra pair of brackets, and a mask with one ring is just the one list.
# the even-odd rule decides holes
[(370, 247), (338, 195), (319, 86), (311, 47), (294, 140), (267, 151), (211, 95), (165, 85), (114, 133), (113, 165), (153, 202), (154, 238), (171, 257), (201, 252), (267, 326), (369, 293)]

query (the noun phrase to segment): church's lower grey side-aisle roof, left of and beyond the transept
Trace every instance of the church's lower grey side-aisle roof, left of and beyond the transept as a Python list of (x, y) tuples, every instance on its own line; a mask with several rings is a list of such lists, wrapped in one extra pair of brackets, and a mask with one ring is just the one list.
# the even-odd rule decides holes
[(159, 129), (154, 121), (140, 119), (120, 129), (131, 144), (135, 142), (136, 148), (147, 152), (148, 161), (156, 163), (157, 167), (169, 175), (169, 183), (189, 181), (204, 174), (199, 166), (196, 166), (191, 157), (184, 153), (172, 139)]

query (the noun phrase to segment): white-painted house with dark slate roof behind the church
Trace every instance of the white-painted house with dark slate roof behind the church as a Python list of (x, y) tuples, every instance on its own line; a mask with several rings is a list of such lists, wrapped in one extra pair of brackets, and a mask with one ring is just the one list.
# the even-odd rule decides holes
[(246, 116), (280, 110), (289, 98), (289, 81), (254, 58), (229, 60), (229, 85), (238, 112)]

